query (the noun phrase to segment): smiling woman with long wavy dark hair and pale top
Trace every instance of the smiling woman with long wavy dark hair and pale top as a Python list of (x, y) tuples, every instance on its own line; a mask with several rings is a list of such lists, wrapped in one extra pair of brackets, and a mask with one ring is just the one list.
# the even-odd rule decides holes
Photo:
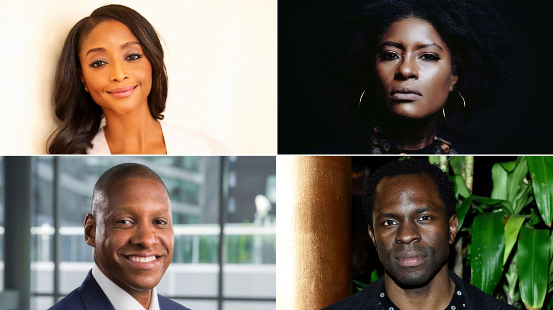
[(94, 10), (70, 30), (61, 52), (53, 94), (60, 124), (48, 152), (229, 153), (205, 133), (160, 122), (167, 92), (163, 47), (148, 20), (121, 5)]

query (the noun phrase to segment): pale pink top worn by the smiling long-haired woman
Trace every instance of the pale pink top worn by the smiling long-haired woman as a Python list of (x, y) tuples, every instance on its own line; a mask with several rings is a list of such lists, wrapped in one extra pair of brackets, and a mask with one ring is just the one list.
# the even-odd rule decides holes
[[(230, 149), (223, 142), (206, 135), (205, 132), (185, 129), (159, 122), (165, 140), (168, 155), (228, 155)], [(104, 127), (101, 127), (92, 139), (92, 148), (86, 150), (91, 155), (111, 155), (107, 145)]]

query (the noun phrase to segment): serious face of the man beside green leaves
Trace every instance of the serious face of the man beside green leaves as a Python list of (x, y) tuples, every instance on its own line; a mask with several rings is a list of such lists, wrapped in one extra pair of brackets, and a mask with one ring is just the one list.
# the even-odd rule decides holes
[(456, 232), (457, 217), (447, 218), (430, 175), (387, 177), (378, 184), (369, 234), (385, 272), (399, 286), (420, 287), (434, 279)]

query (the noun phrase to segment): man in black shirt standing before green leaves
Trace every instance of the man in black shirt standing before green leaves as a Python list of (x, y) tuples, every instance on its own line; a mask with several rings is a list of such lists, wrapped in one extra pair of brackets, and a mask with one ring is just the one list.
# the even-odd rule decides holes
[(427, 161), (405, 159), (377, 170), (363, 210), (384, 276), (324, 309), (516, 309), (447, 269), (455, 205), (447, 174)]

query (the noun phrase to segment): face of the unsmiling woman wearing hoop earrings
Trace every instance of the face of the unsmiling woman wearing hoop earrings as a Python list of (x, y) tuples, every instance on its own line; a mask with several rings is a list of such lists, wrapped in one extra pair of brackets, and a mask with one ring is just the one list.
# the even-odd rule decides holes
[(394, 115), (422, 119), (435, 115), (457, 82), (451, 54), (434, 26), (405, 18), (385, 31), (375, 70), (385, 106)]

